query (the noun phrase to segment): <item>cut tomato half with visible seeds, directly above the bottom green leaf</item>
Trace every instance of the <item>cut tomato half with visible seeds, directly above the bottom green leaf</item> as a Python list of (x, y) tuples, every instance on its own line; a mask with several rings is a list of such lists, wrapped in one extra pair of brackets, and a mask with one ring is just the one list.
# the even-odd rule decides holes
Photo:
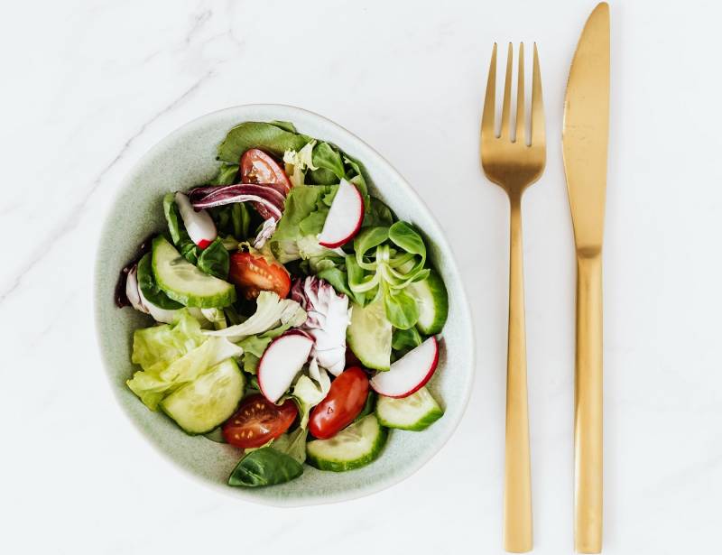
[(251, 395), (223, 424), (223, 437), (241, 449), (261, 447), (288, 430), (298, 413), (292, 399), (276, 406), (261, 394)]

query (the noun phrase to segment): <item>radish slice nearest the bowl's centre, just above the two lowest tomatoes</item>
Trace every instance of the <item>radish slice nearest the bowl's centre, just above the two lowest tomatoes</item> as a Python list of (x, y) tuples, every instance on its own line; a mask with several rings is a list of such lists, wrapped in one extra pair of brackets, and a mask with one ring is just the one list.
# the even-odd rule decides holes
[(293, 378), (309, 359), (313, 339), (301, 330), (292, 329), (273, 340), (258, 363), (258, 386), (270, 402), (281, 399)]

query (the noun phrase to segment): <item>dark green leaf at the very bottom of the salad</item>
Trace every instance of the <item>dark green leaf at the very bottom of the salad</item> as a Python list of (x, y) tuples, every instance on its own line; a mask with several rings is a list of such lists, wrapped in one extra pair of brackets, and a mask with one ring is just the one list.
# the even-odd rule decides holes
[(228, 477), (228, 485), (274, 486), (289, 482), (301, 474), (303, 474), (303, 466), (298, 460), (273, 447), (263, 447), (241, 458)]

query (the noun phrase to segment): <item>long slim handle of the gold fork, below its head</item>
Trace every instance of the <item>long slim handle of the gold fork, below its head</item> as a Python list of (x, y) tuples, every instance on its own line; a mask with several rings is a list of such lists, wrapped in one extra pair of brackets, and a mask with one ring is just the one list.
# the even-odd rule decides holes
[(532, 476), (526, 393), (522, 198), (510, 195), (509, 335), (506, 358), (504, 550), (532, 550)]

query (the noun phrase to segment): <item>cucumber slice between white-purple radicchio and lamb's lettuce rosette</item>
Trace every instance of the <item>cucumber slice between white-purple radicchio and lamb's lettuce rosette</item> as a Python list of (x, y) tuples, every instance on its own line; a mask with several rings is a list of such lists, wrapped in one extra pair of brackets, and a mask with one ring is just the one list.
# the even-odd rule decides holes
[(366, 307), (351, 303), (348, 347), (367, 368), (388, 370), (391, 366), (391, 331), (381, 298)]

